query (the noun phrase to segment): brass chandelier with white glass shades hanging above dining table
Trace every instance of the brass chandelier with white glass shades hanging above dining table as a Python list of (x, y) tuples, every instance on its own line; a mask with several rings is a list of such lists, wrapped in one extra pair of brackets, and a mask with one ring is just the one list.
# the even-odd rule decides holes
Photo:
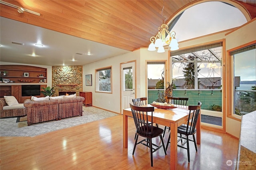
[(170, 49), (171, 51), (179, 49), (178, 41), (175, 38), (176, 32), (174, 32), (174, 31), (169, 32), (168, 25), (164, 24), (166, 17), (164, 16), (163, 11), (164, 11), (164, 6), (162, 9), (163, 24), (160, 27), (158, 27), (157, 35), (155, 37), (153, 36), (150, 38), (151, 43), (148, 46), (148, 51), (156, 51), (156, 47), (158, 47), (157, 52), (164, 53), (165, 52), (165, 50), (164, 50), (165, 44), (169, 44), (169, 47), (171, 47), (171, 49)]

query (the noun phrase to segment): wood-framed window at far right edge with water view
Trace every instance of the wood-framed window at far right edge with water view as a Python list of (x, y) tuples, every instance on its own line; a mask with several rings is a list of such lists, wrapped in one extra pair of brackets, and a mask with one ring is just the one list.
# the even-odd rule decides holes
[(234, 60), (234, 115), (256, 110), (255, 44), (230, 53)]

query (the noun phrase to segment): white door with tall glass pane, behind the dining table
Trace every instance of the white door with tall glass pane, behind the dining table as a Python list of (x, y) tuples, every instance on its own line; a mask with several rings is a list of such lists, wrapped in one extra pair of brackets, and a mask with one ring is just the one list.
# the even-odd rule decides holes
[(121, 86), (122, 86), (122, 114), (123, 109), (130, 107), (132, 99), (135, 98), (135, 62), (121, 65)]

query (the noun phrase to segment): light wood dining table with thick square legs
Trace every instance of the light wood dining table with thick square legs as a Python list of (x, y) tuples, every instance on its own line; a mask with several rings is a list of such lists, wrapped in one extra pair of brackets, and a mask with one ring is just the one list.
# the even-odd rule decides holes
[[(141, 107), (153, 107), (152, 105), (143, 105)], [(153, 123), (170, 127), (170, 169), (176, 170), (178, 164), (177, 158), (177, 139), (178, 127), (182, 124), (188, 123), (189, 110), (188, 106), (174, 105), (173, 109), (158, 109), (154, 107), (154, 112), (148, 113), (151, 119), (153, 116)], [(128, 148), (128, 117), (132, 117), (130, 108), (123, 109), (123, 147)], [(196, 123), (196, 143), (201, 142), (201, 112)]]

